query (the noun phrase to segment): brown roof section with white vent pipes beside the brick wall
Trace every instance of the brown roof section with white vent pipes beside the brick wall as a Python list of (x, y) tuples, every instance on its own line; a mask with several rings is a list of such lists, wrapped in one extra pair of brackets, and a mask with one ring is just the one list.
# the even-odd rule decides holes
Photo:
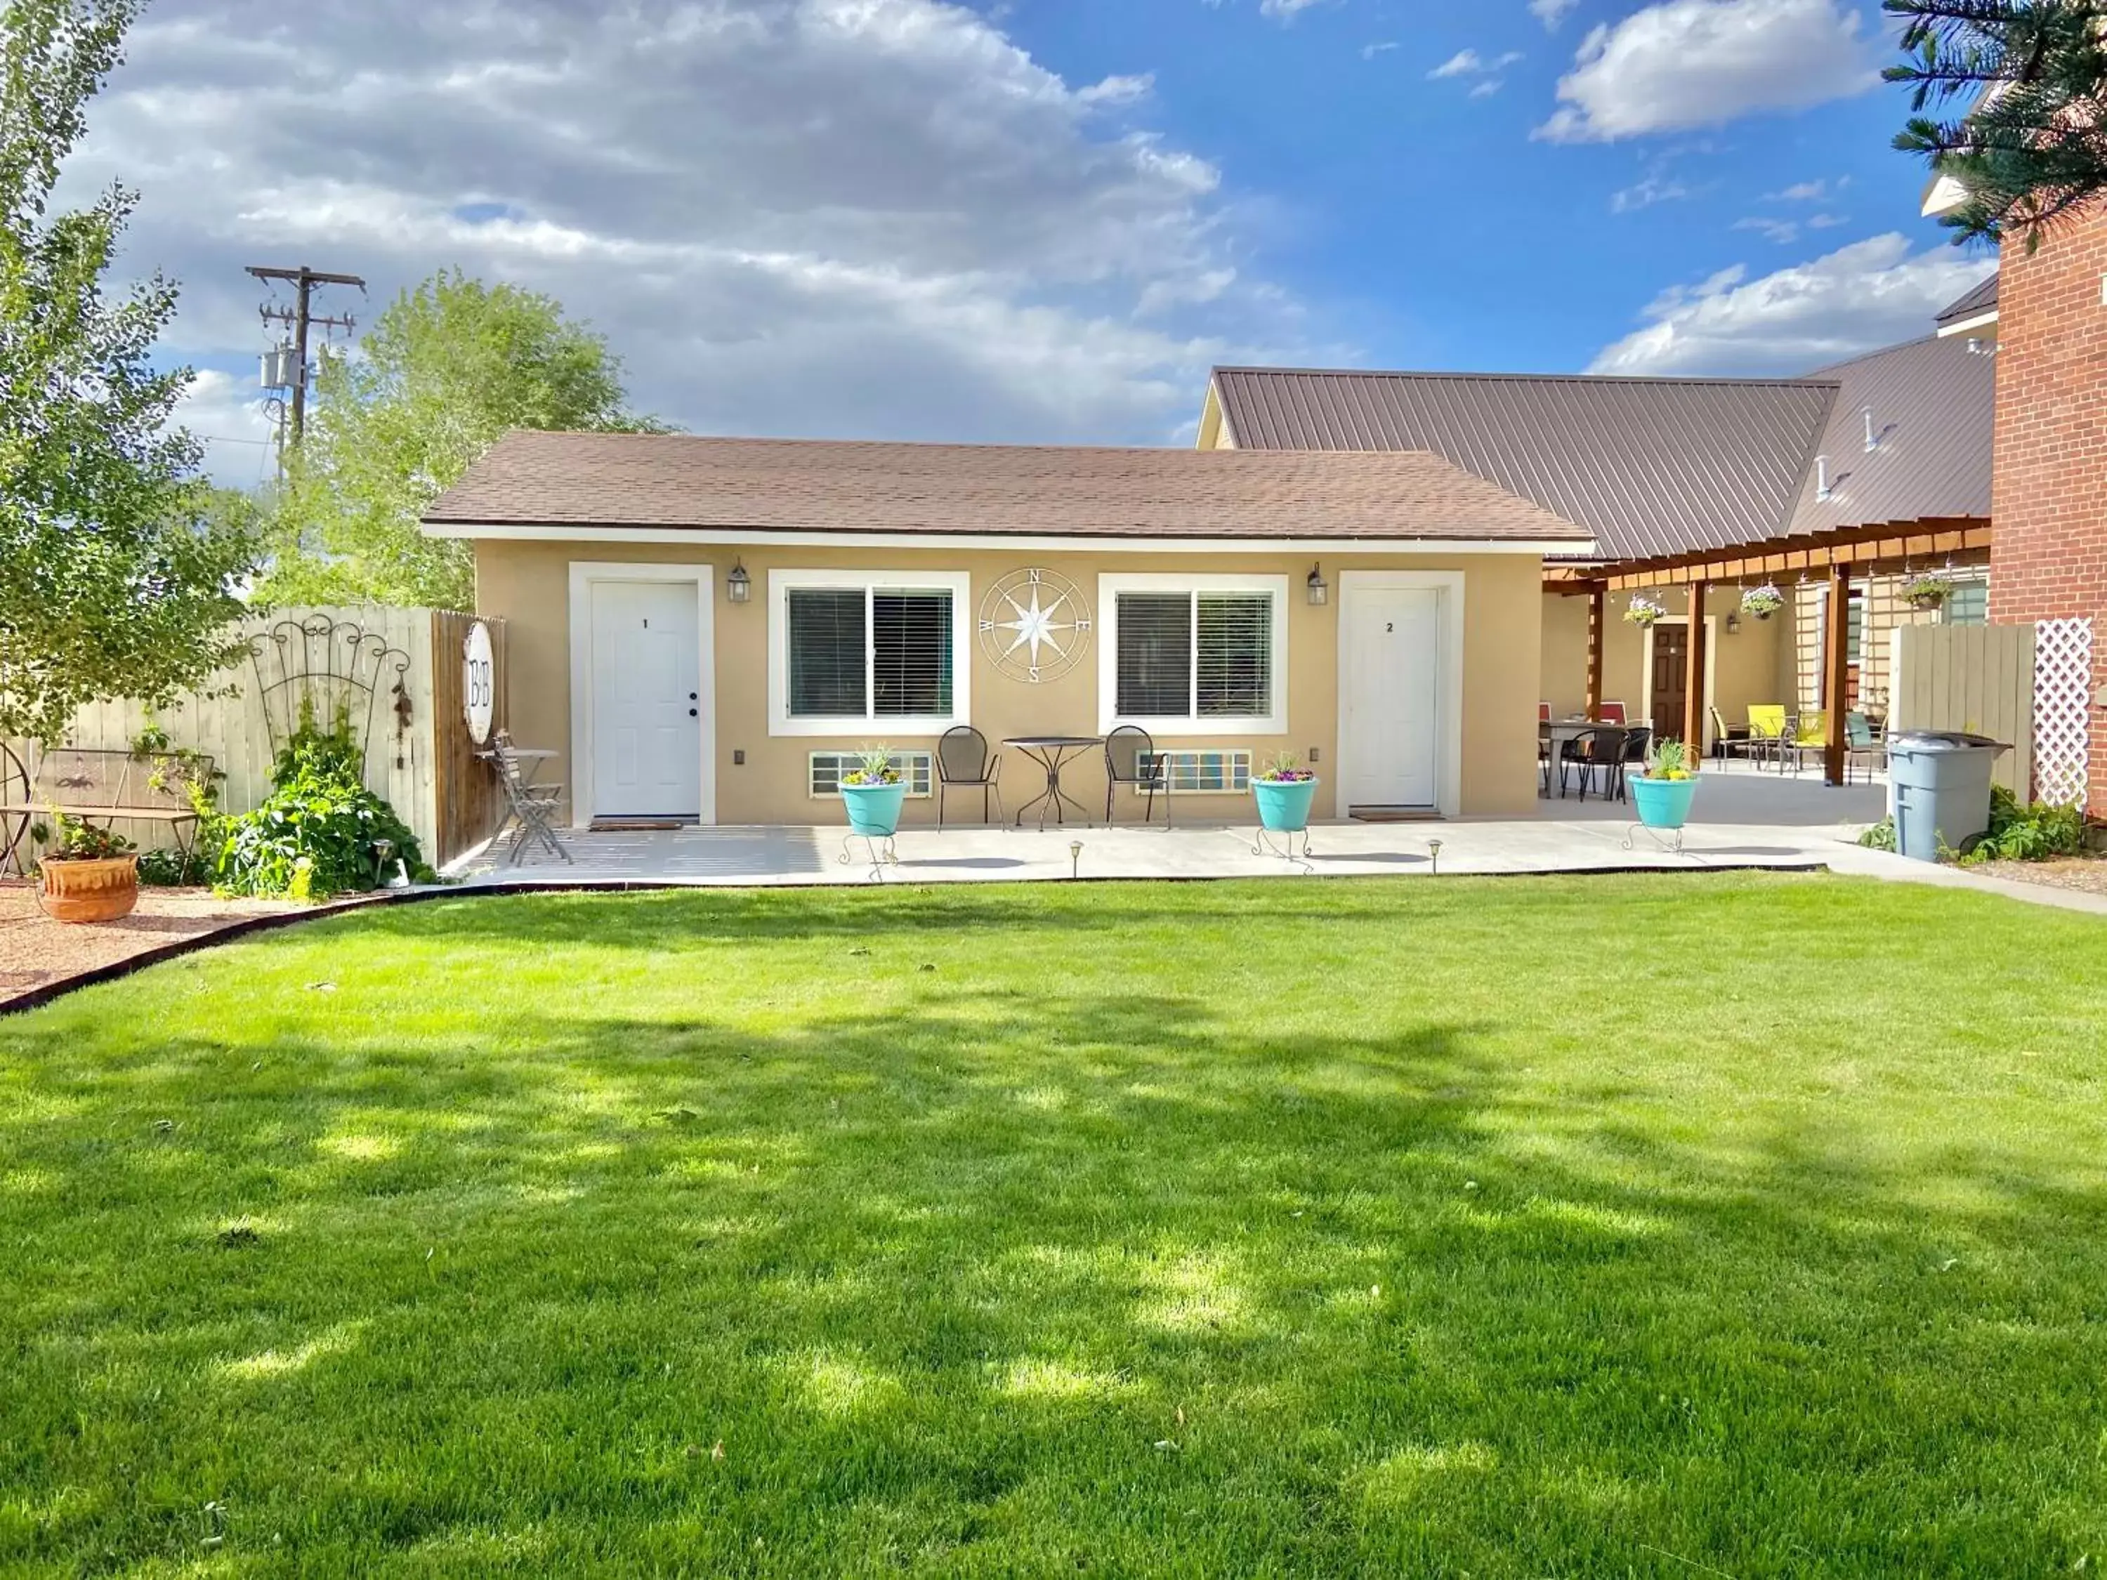
[[(1823, 369), (1839, 392), (1820, 453), (1831, 497), (1810, 468), (1791, 533), (1909, 520), (1989, 520), (1993, 356), (1962, 339), (1917, 339)], [(1875, 449), (1865, 447), (1873, 415)]]

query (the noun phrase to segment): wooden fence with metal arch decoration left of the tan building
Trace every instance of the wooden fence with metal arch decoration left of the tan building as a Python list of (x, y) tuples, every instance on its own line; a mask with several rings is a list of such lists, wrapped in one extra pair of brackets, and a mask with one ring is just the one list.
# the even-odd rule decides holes
[[(173, 748), (204, 752), (225, 779), (223, 811), (270, 796), (276, 748), (299, 725), (301, 699), (318, 723), (341, 714), (367, 752), (367, 788), (400, 813), (434, 866), (487, 838), (501, 794), (464, 723), (461, 649), (474, 615), (445, 609), (301, 607), (247, 621), (255, 659), (215, 674), (200, 691), (150, 716), (135, 702), (91, 704), (63, 744), (126, 752), (150, 725)], [(495, 657), (491, 729), (504, 729), (504, 624), (485, 621)], [(36, 773), (34, 742), (6, 742)], [(141, 847), (169, 845), (164, 824), (118, 824)]]

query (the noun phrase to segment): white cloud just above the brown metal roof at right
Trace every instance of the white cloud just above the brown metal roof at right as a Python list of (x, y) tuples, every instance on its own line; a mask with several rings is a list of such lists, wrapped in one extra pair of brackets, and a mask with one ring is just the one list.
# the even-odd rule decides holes
[(1606, 345), (1591, 373), (1806, 373), (1928, 335), (1932, 316), (1987, 272), (1951, 246), (1911, 255), (1901, 234), (1852, 242), (1751, 280), (1719, 270), (1646, 308), (1652, 322)]

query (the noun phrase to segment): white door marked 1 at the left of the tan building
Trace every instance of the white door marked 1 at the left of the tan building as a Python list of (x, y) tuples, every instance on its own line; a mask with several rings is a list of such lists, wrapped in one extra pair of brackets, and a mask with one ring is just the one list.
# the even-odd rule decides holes
[(700, 817), (702, 674), (693, 581), (592, 584), (592, 815)]

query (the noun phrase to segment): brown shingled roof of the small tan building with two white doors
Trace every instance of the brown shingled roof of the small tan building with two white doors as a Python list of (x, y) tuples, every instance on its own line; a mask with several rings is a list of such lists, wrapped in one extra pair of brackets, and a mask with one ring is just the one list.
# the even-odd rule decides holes
[[(514, 432), (428, 525), (1498, 539), (1589, 533), (1439, 455)], [(466, 535), (474, 535), (468, 531)]]

